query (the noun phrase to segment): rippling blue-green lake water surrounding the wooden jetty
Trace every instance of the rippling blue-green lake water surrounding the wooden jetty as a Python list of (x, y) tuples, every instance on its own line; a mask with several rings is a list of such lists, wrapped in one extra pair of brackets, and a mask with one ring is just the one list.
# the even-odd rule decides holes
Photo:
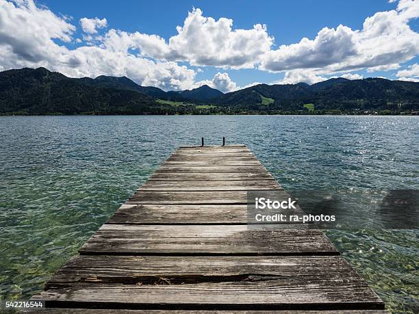
[[(414, 116), (0, 117), (0, 296), (27, 300), (179, 145), (246, 144), (291, 194), (419, 189)], [(419, 232), (327, 231), (389, 309), (419, 312)]]

